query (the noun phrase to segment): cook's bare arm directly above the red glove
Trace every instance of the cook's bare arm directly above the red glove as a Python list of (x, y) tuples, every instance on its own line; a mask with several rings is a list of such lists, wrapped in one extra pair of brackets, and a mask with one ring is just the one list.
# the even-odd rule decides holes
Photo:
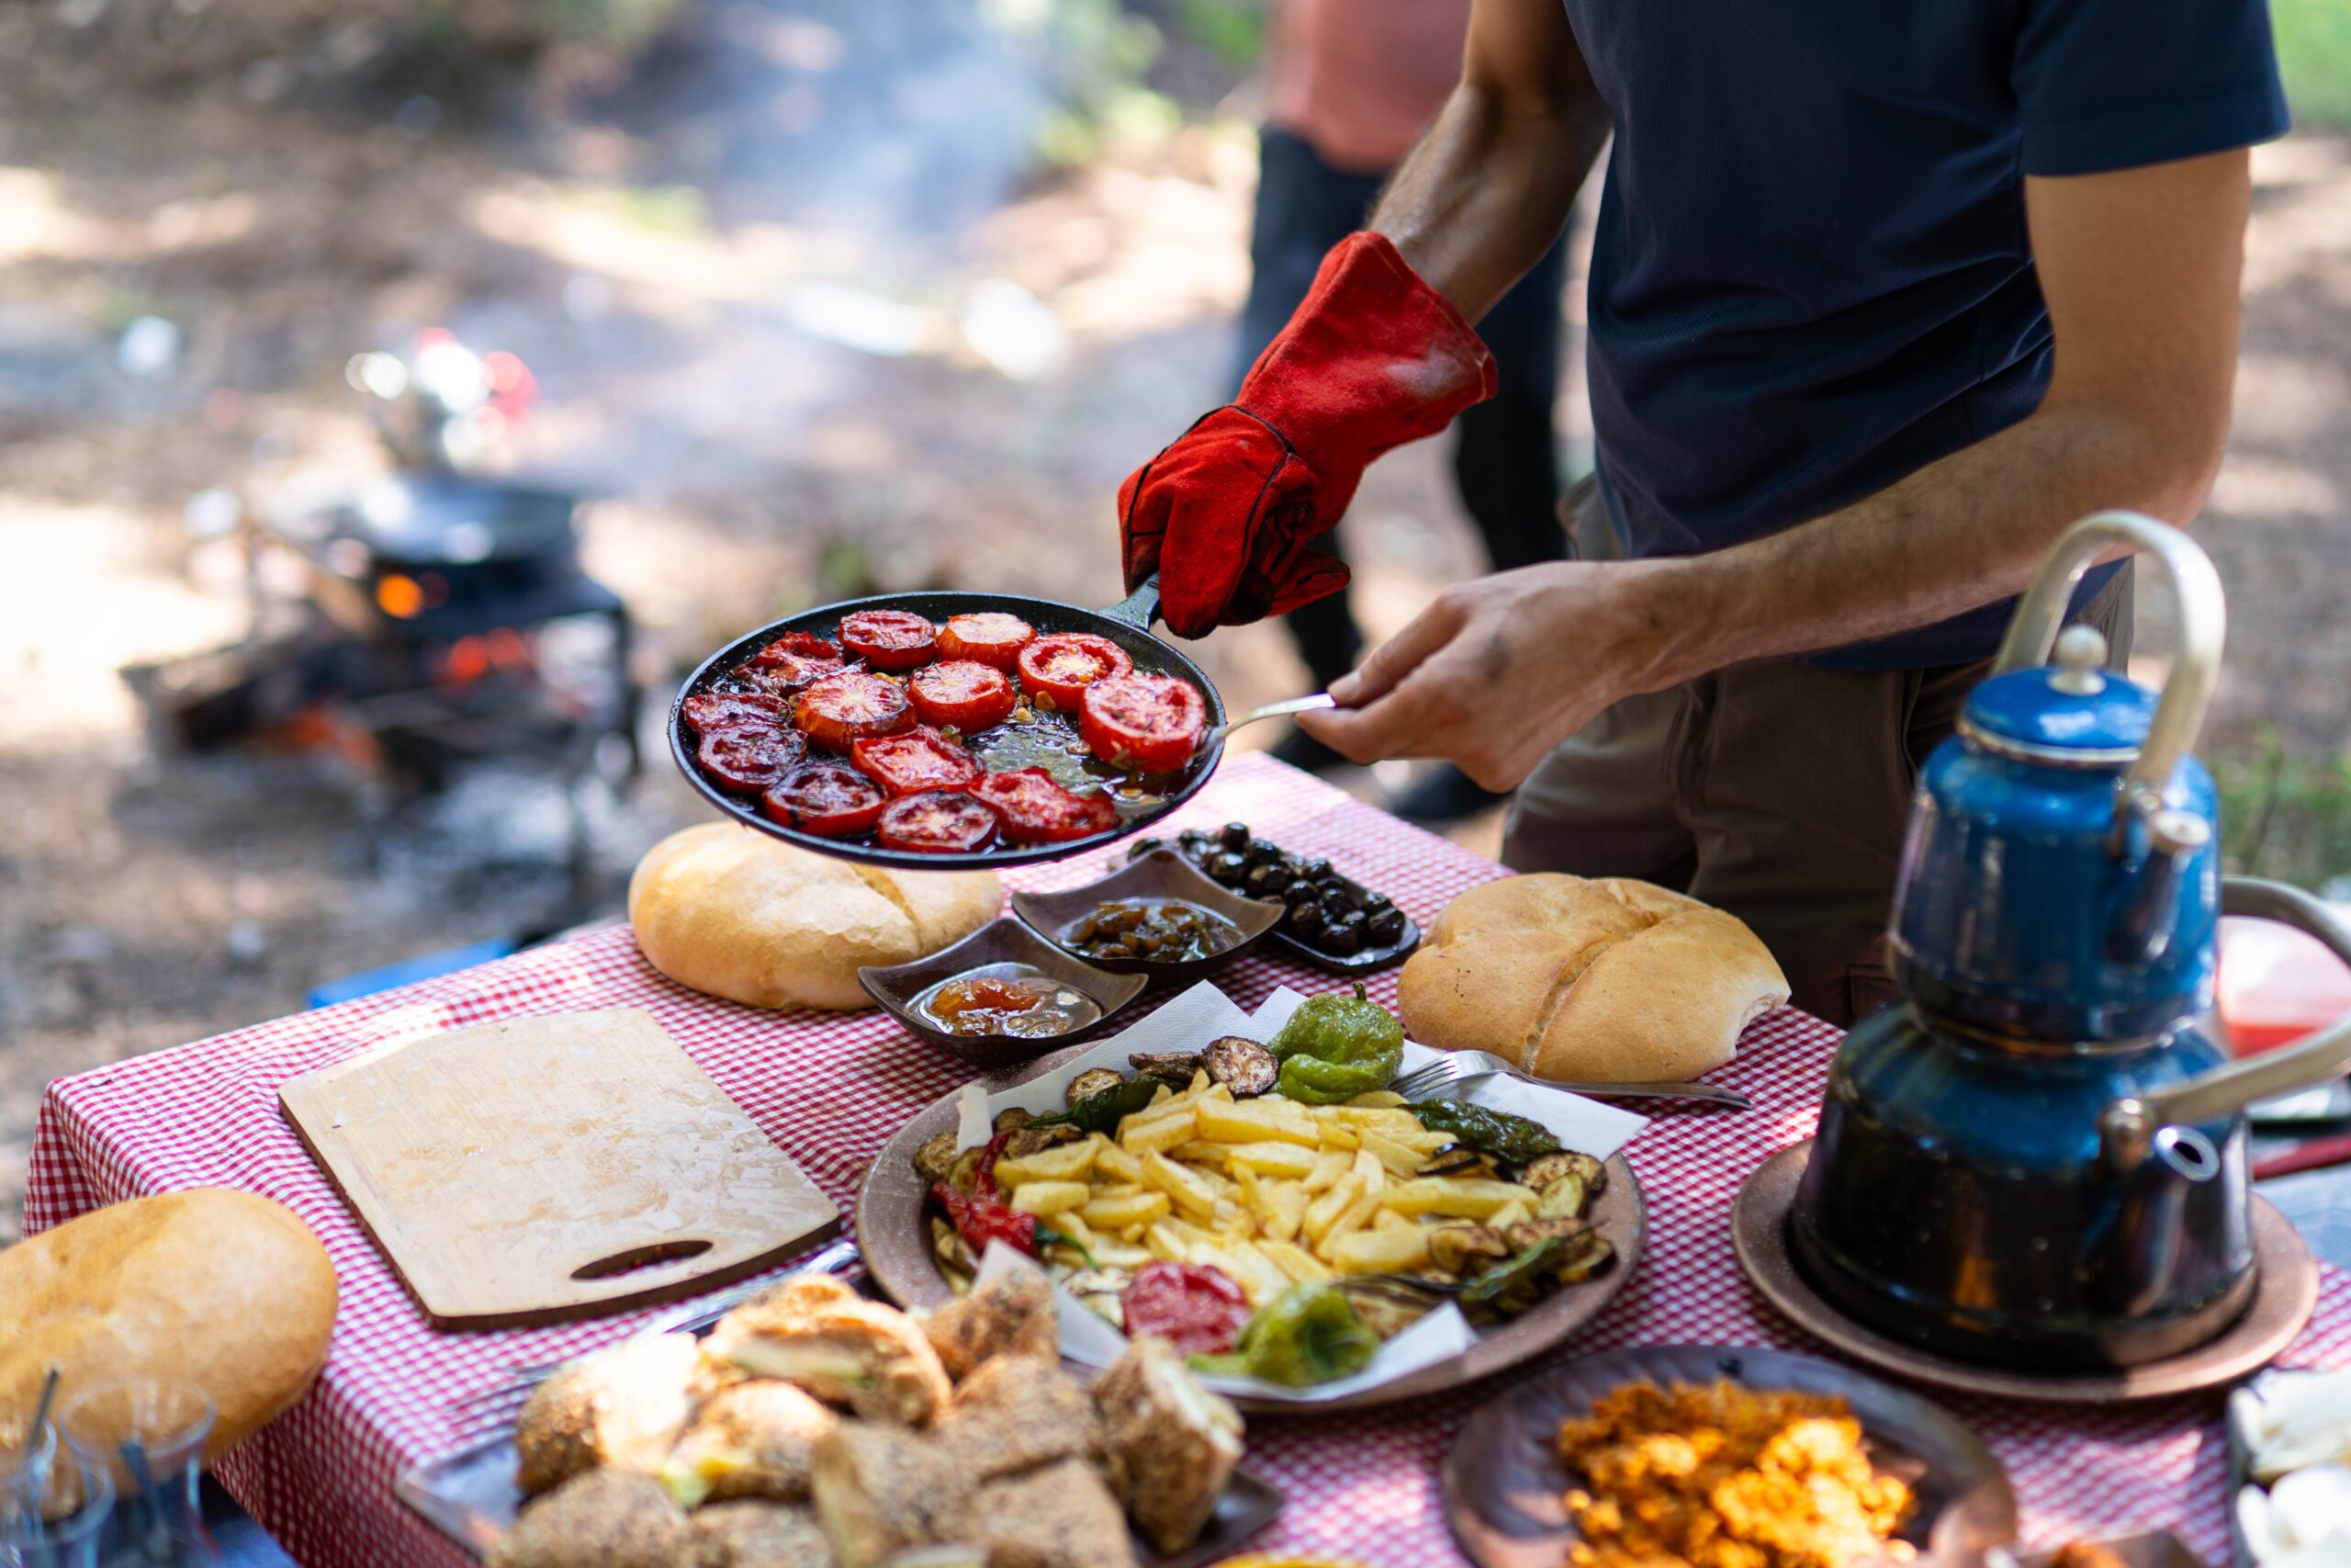
[(1552, 249), (1608, 141), (1559, 0), (1476, 0), (1462, 80), (1371, 226), (1472, 322)]

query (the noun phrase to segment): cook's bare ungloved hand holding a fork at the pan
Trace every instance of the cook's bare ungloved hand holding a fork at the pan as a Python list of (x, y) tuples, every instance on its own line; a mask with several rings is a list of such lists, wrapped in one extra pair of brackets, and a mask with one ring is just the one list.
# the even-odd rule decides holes
[(1298, 724), (1354, 762), (1444, 757), (1514, 790), (1561, 736), (1653, 691), (1672, 562), (1549, 562), (1436, 595)]

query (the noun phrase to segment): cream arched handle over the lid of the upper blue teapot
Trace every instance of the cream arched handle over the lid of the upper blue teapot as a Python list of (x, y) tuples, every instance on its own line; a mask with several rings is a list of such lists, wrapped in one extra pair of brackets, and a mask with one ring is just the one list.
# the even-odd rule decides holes
[(2074, 585), (2097, 564), (2099, 555), (2114, 548), (2144, 550), (2163, 562), (2163, 574), (2172, 581), (2172, 599), (2179, 611), (2179, 628), (2172, 654), (2172, 677), (2163, 682), (2163, 698), (2156, 717), (2146, 726), (2146, 743), (2139, 759), (2123, 776), (2123, 795), (2116, 811), (2154, 811), (2172, 783), (2179, 759), (2196, 745), (2203, 729), (2205, 705), (2212, 701), (2212, 684), (2219, 679), (2219, 644), (2229, 635), (2229, 602), (2219, 590), (2219, 574), (2196, 543), (2144, 512), (2092, 512), (2076, 522), (2041, 562), (2031, 588), (2008, 621), (2001, 639), (2001, 656), (1994, 675), (2045, 665), (2057, 646), (2057, 628), (2064, 625)]

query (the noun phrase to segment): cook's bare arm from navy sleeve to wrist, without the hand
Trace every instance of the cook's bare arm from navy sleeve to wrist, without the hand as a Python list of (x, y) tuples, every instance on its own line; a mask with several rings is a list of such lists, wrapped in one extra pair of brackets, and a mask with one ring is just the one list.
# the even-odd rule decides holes
[(1679, 588), (1707, 614), (1660, 649), (1667, 675), (2008, 597), (2097, 508), (2186, 527), (2229, 440), (2248, 207), (2243, 150), (2024, 181), (2057, 341), (2041, 409), (1841, 512), (1686, 562)]

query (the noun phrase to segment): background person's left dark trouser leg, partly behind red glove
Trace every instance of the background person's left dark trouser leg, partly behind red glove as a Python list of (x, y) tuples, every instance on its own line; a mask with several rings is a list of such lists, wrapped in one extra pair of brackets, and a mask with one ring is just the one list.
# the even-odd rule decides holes
[[(1284, 129), (1258, 132), (1258, 205), (1248, 233), (1248, 303), (1241, 308), (1234, 386), (1305, 301), (1324, 254), (1371, 216), (1382, 181), (1382, 174), (1333, 169)], [(1338, 536), (1324, 536), (1321, 548), (1338, 555)], [(1291, 611), (1284, 621), (1317, 686), (1335, 682), (1364, 654), (1364, 632), (1354, 625), (1345, 590)]]

